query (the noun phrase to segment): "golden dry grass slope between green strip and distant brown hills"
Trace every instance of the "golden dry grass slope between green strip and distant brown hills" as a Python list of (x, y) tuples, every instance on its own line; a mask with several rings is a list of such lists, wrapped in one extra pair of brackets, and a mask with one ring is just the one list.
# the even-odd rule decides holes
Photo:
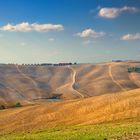
[(140, 89), (0, 111), (0, 133), (140, 117)]

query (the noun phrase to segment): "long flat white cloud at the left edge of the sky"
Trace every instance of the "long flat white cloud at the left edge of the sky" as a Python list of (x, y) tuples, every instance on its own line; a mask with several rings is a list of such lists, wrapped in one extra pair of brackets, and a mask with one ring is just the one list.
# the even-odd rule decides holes
[(63, 25), (61, 24), (38, 24), (28, 22), (22, 22), (16, 25), (7, 24), (0, 27), (2, 31), (19, 31), (19, 32), (28, 32), (28, 31), (37, 31), (37, 32), (48, 32), (48, 31), (61, 31), (64, 30)]

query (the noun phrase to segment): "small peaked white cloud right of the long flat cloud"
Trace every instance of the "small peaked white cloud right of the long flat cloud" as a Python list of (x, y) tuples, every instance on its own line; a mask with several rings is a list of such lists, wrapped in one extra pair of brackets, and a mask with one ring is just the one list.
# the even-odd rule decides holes
[(98, 38), (98, 37), (102, 37), (104, 36), (105, 33), (104, 32), (96, 32), (95, 30), (89, 28), (89, 29), (85, 29), (84, 31), (77, 33), (77, 36), (80, 37), (93, 37), (93, 38)]

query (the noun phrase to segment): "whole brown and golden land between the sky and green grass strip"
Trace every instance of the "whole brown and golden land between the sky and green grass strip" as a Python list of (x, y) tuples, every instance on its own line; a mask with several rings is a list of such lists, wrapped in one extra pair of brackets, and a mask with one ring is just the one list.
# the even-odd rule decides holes
[[(140, 121), (139, 62), (72, 66), (0, 65), (0, 134), (118, 120)], [(58, 101), (48, 101), (54, 95)]]

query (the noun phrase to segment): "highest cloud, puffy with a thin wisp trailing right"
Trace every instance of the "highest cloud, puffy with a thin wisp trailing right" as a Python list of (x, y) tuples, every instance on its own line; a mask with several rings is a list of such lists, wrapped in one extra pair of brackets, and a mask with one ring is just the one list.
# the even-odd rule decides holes
[(113, 18), (118, 17), (123, 12), (135, 13), (138, 11), (139, 9), (136, 7), (124, 6), (122, 8), (100, 8), (98, 14), (100, 17), (113, 19)]

